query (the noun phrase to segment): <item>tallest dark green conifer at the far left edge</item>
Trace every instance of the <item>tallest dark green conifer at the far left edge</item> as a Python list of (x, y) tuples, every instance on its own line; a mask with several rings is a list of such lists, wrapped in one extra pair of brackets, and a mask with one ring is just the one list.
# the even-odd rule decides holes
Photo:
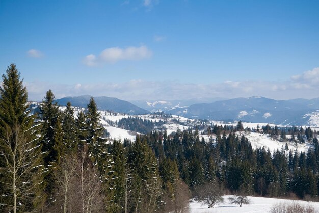
[[(0, 87), (0, 211), (32, 211), (45, 196), (41, 147), (34, 116), (28, 111), (28, 92), (15, 64), (2, 75)], [(10, 187), (11, 186), (11, 187)], [(2, 209), (4, 207), (4, 209)], [(9, 207), (9, 208), (8, 208)]]

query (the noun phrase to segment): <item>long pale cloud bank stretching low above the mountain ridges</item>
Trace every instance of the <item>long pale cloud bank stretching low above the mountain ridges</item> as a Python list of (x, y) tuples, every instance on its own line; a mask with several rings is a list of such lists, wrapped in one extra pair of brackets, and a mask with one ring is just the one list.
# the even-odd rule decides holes
[[(317, 70), (317, 68), (313, 69)], [(319, 90), (312, 84), (316, 75), (313, 70), (304, 72), (298, 80), (284, 82), (270, 81), (226, 81), (217, 84), (193, 84), (178, 81), (144, 81), (135, 79), (128, 82), (114, 83), (77, 83), (74, 85), (49, 84), (47, 82), (26, 83), (29, 97), (42, 100), (45, 92), (52, 89), (57, 98), (89, 94), (93, 96), (117, 97), (123, 100), (139, 99), (191, 99), (198, 97), (250, 97), (264, 96), (274, 99), (316, 98)]]

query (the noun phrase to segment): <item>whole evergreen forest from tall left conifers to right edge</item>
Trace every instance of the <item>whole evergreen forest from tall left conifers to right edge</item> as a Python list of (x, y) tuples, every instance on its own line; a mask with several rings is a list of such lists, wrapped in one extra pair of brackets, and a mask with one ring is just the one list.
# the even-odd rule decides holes
[[(189, 199), (204, 188), (231, 194), (316, 200), (319, 143), (312, 130), (260, 127), (285, 144), (286, 132), (305, 136), (305, 152), (253, 149), (244, 129), (209, 126), (208, 141), (198, 128), (151, 131), (150, 121), (121, 120), (142, 128), (135, 141), (110, 141), (91, 98), (74, 115), (61, 111), (46, 92), (40, 110), (30, 113), (28, 91), (16, 65), (0, 89), (1, 212), (187, 212)], [(145, 123), (146, 122), (146, 123)], [(141, 127), (142, 126), (142, 127)], [(216, 140), (215, 140), (216, 136)]]

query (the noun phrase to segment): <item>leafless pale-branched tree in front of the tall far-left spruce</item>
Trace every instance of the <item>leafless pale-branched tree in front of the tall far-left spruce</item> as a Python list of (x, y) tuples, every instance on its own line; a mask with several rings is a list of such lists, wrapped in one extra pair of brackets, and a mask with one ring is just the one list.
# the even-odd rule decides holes
[(26, 211), (38, 199), (39, 185), (42, 183), (39, 154), (40, 146), (29, 141), (23, 130), (15, 125), (7, 128), (5, 137), (0, 139), (0, 157), (4, 162), (1, 173), (2, 196), (7, 196), (4, 207), (9, 211)]

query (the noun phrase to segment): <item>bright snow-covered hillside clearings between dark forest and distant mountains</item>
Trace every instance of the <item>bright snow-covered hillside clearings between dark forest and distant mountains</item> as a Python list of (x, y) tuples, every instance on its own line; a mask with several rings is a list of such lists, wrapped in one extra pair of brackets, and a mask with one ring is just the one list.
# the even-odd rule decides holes
[[(34, 110), (36, 110), (36, 107), (38, 105), (37, 102), (31, 103), (33, 104)], [(80, 107), (72, 107), (74, 110), (74, 117), (77, 116), (79, 111), (84, 111), (84, 108)], [(61, 111), (64, 111), (66, 107), (60, 107)], [(161, 115), (161, 114), (145, 114), (145, 115), (127, 115), (127, 114), (121, 114), (121, 113), (114, 113), (114, 112), (109, 112), (109, 111), (99, 111), (100, 113), (100, 123), (104, 126), (105, 129), (110, 133), (110, 139), (121, 139), (122, 141), (124, 139), (129, 139), (131, 141), (135, 141), (136, 135), (141, 134), (140, 132), (136, 131), (130, 131), (127, 129), (122, 129), (119, 128), (116, 125), (116, 122), (118, 122), (122, 118), (129, 118), (129, 117), (134, 117), (134, 118), (141, 118), (141, 119), (148, 119), (152, 122), (161, 122), (162, 126), (161, 127), (155, 127), (154, 130), (166, 130), (167, 134), (171, 134), (172, 132), (176, 132), (178, 129), (183, 130), (183, 129), (189, 129), (192, 128), (194, 129), (195, 126), (201, 125), (202, 122), (196, 119), (190, 119), (190, 118), (185, 118), (182, 116), (177, 116), (177, 115)], [(314, 120), (318, 119), (319, 121), (319, 111), (317, 112), (316, 115), (311, 114), (309, 116), (312, 116)], [(317, 116), (317, 117), (316, 117)], [(233, 125), (236, 126), (237, 123), (224, 123), (221, 121), (206, 121), (206, 125)], [(249, 127), (251, 129), (256, 129), (257, 125), (259, 127), (265, 126), (268, 123), (247, 123), (243, 122), (243, 126)], [(275, 124), (269, 124), (270, 126), (274, 127)], [(278, 127), (283, 127), (282, 125), (277, 125)], [(303, 126), (306, 128), (307, 126)], [(315, 130), (319, 130), (319, 126), (317, 128), (313, 128)], [(270, 149), (271, 152), (276, 151), (277, 149), (281, 151), (285, 147), (285, 142), (280, 142), (278, 140), (270, 138), (267, 134), (259, 134), (256, 132), (237, 132), (238, 137), (241, 137), (242, 135), (245, 135), (247, 137), (252, 145), (253, 149), (259, 148), (259, 147), (264, 147), (265, 149)], [(200, 135), (200, 138), (203, 137), (207, 142), (210, 138), (210, 135)], [(287, 136), (289, 138), (289, 136)], [(212, 135), (212, 139), (216, 140), (216, 136)], [(307, 150), (312, 147), (310, 143), (306, 141), (304, 144), (298, 143), (297, 146), (293, 142), (287, 142), (288, 148), (291, 151), (297, 151), (299, 152), (307, 152)]]

